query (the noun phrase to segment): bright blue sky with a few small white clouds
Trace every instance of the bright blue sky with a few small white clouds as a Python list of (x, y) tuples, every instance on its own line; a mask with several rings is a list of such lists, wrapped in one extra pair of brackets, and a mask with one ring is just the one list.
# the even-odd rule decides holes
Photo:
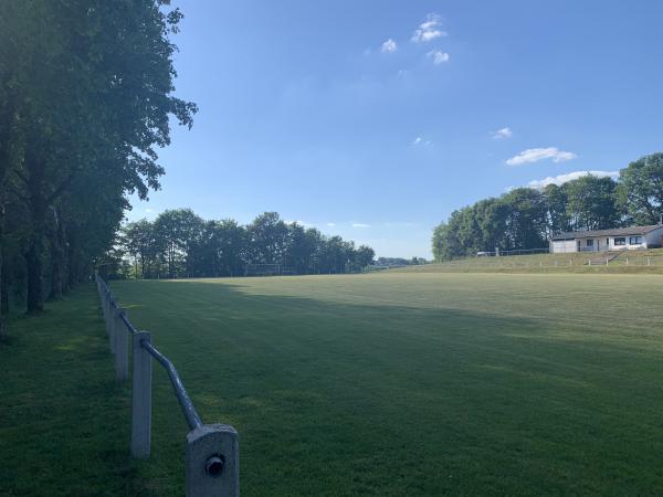
[(277, 211), (430, 257), (454, 209), (663, 148), (660, 1), (173, 4), (177, 94), (200, 113), (130, 220)]

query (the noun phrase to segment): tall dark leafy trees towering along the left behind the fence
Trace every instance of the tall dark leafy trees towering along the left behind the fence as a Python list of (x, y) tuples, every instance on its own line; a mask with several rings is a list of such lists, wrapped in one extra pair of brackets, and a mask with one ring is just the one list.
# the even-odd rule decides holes
[(173, 96), (166, 0), (0, 0), (0, 302), (40, 313), (103, 264), (158, 149), (196, 105)]

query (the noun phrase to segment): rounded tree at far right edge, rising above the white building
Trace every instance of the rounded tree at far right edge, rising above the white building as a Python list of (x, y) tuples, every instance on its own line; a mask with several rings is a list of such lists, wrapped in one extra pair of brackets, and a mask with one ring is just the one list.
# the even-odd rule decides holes
[(663, 154), (652, 154), (631, 162), (619, 172), (618, 202), (627, 220), (655, 224), (663, 214)]

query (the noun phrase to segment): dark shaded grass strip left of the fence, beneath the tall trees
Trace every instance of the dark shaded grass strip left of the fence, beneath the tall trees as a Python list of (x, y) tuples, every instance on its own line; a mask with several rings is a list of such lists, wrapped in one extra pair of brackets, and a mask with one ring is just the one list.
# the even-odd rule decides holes
[(114, 381), (96, 293), (11, 321), (0, 348), (0, 495), (149, 495), (129, 458), (126, 385)]

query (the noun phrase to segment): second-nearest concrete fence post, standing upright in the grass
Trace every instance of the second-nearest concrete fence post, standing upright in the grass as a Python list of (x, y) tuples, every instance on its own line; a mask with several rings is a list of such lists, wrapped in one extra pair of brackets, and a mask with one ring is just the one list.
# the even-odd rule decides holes
[(134, 371), (131, 373), (131, 455), (148, 458), (151, 432), (151, 356), (141, 341), (151, 343), (147, 331), (134, 335)]

